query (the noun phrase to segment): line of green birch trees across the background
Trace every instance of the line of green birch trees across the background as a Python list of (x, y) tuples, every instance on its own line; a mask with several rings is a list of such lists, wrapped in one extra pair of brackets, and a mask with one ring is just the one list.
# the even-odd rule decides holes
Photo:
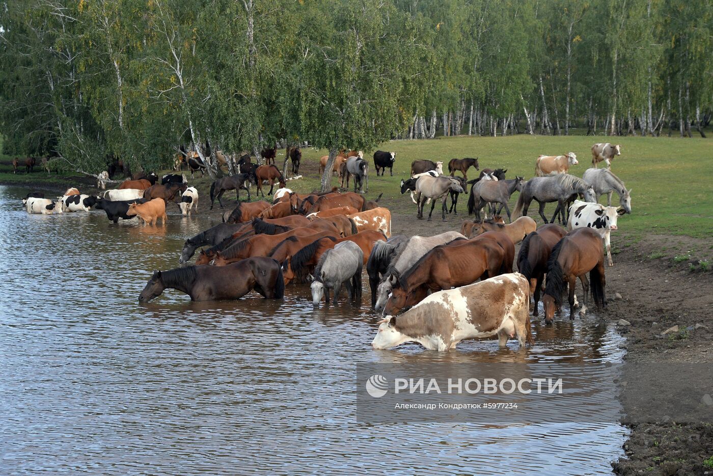
[(703, 135), (712, 46), (713, 0), (9, 0), (0, 127), (89, 173), (202, 144), (211, 175), (276, 141)]

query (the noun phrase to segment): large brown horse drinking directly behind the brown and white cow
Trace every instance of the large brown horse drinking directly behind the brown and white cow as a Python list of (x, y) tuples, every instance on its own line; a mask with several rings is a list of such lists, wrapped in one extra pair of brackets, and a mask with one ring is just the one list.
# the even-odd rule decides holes
[(424, 254), (414, 266), (394, 280), (384, 315), (395, 316), (419, 303), (431, 291), (472, 284), (502, 274), (503, 248), (493, 239), (478, 237), (440, 245)]

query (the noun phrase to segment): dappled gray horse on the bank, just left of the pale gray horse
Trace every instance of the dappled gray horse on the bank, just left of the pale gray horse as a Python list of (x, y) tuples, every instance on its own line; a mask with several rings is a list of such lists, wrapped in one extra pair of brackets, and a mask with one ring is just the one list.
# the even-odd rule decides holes
[[(515, 217), (519, 217), (520, 214), (526, 216), (530, 202), (534, 199), (540, 204), (540, 217), (542, 217), (545, 223), (554, 223), (555, 217), (561, 212), (560, 223), (564, 224), (567, 221), (565, 218), (565, 204), (578, 194), (584, 196), (585, 202), (597, 201), (594, 188), (580, 179), (580, 177), (569, 174), (533, 177), (525, 182), (522, 190), (520, 190), (518, 202), (515, 204)], [(557, 208), (555, 209), (555, 214), (552, 216), (552, 221), (548, 222), (544, 211), (545, 204), (550, 202), (557, 202)]]

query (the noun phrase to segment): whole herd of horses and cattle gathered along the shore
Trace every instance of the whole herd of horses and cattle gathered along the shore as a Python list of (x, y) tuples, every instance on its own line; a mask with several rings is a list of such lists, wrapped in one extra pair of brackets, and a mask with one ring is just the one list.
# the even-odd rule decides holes
[[(584, 291), (580, 314), (586, 310), (590, 291), (597, 306), (606, 306), (604, 249), (612, 266), (609, 235), (617, 229), (617, 217), (631, 212), (630, 190), (610, 170), (620, 146), (597, 144), (592, 150), (594, 168), (583, 178), (568, 174), (569, 167), (578, 163), (573, 152), (540, 155), (536, 176), (530, 180), (508, 180), (507, 170), (483, 169), (468, 181), (469, 167), (480, 170), (477, 158), (451, 160), (450, 175), (443, 175), (443, 162), (412, 162), (411, 178), (401, 180), (401, 193), (411, 190), (415, 194), (412, 200), (418, 205), (419, 218), (428, 200), (433, 202), (431, 212), (436, 201), (442, 200), (445, 217), (449, 196), (451, 211), (457, 213), (457, 196), (471, 185), (468, 210), (477, 218), (463, 222), (458, 232), (431, 237), (392, 236), (391, 213), (379, 204), (381, 195), (366, 200), (363, 193), (340, 192), (337, 187), (299, 194), (280, 180), (272, 202), (238, 200), (235, 209), (223, 214), (222, 223), (188, 238), (179, 259), (182, 266), (155, 271), (139, 301), (150, 301), (166, 288), (178, 289), (193, 300), (238, 299), (250, 291), (282, 299), (285, 286), (294, 280), (311, 283), (314, 306), (322, 300), (336, 304), (342, 287), (349, 301), (358, 304), (366, 267), (371, 306), (385, 316), (379, 321), (374, 348), (418, 342), (446, 351), (465, 338), (492, 336), (498, 337), (501, 346), (508, 338), (518, 338), (520, 346), (532, 344), (530, 307), (538, 315), (540, 294), (547, 324), (567, 291), (570, 319), (574, 319), (579, 306), (574, 292), (577, 279)], [(334, 172), (343, 181), (354, 176), (355, 187), (357, 181), (361, 187), (366, 180), (361, 172), (365, 175), (367, 170), (359, 165), (359, 161), (366, 162), (363, 154), (340, 155), (344, 158), (339, 157)], [(376, 152), (377, 174), (391, 169), (395, 159), (395, 152)], [(606, 169), (597, 168), (601, 161), (607, 163)], [(349, 163), (356, 167), (350, 169)], [(455, 177), (457, 171), (462, 178)], [(96, 207), (113, 222), (138, 216), (148, 224), (158, 219), (165, 224), (165, 205), (170, 200), (180, 198), (184, 215), (197, 207), (198, 191), (188, 187), (184, 175), (165, 175), (160, 184), (156, 182), (158, 177), (152, 174), (127, 180), (117, 190), (105, 192), (105, 197), (69, 189), (56, 201), (29, 195), (24, 202), (29, 213)], [(240, 187), (235, 190), (239, 193)], [(508, 200), (514, 190), (520, 191), (517, 218), (505, 223), (498, 205), (511, 217)], [(612, 192), (620, 197), (619, 209), (611, 206)], [(596, 203), (603, 194), (609, 200), (607, 207)], [(545, 221), (540, 227), (526, 216), (528, 200), (540, 203)], [(558, 202), (550, 222), (542, 212), (547, 202)], [(483, 207), (485, 218), (480, 216)], [(555, 224), (557, 217), (567, 229)], [(516, 244), (520, 244), (517, 254)], [(186, 265), (196, 252), (195, 264)]]

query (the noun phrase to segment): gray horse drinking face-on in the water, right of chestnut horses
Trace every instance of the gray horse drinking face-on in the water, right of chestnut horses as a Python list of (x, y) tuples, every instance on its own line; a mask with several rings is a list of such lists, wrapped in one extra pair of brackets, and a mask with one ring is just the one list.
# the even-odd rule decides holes
[(318, 307), (319, 301), (329, 304), (329, 289), (334, 289), (333, 304), (337, 304), (339, 289), (347, 286), (349, 299), (361, 300), (361, 268), (364, 265), (364, 252), (354, 242), (338, 243), (333, 249), (322, 254), (314, 269), (312, 278), (312, 306)]

